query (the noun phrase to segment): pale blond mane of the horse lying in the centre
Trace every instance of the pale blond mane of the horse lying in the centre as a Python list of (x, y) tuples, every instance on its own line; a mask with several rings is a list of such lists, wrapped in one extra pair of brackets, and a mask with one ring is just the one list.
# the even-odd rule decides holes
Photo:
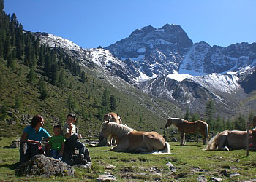
[[(107, 122), (103, 122), (102, 126), (104, 124), (107, 124)], [(128, 127), (127, 125), (124, 124), (118, 124), (116, 122), (109, 122), (108, 123), (110, 132), (112, 134), (115, 134), (116, 137), (120, 138), (121, 136), (128, 135), (130, 132), (135, 131), (134, 129)]]

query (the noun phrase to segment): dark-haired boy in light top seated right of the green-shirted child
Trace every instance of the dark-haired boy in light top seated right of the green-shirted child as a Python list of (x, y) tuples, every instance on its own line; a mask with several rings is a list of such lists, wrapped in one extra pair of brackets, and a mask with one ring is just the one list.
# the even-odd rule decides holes
[(71, 157), (75, 148), (77, 148), (79, 150), (81, 162), (91, 162), (88, 149), (86, 149), (86, 146), (78, 140), (78, 138), (82, 138), (82, 135), (78, 135), (78, 130), (75, 127), (74, 122), (76, 122), (75, 114), (68, 114), (67, 122), (64, 124), (63, 129), (63, 135), (66, 139), (64, 151)]

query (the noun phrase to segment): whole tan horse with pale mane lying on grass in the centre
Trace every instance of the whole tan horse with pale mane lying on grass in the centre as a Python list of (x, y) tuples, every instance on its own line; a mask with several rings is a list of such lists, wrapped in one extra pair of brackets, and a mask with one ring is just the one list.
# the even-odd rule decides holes
[(99, 141), (108, 135), (116, 138), (117, 146), (111, 151), (151, 152), (162, 151), (170, 154), (170, 145), (157, 132), (138, 132), (127, 125), (105, 121), (102, 123)]

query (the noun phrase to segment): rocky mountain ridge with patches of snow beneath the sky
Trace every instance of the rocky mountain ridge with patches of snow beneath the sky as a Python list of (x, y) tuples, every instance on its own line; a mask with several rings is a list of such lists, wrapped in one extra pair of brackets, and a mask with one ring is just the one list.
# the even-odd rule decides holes
[[(235, 114), (239, 98), (248, 94), (244, 92), (248, 86), (243, 85), (247, 80), (255, 82), (253, 76), (247, 78), (255, 71), (256, 43), (228, 47), (193, 43), (180, 25), (137, 29), (105, 49), (83, 49), (48, 33), (35, 34), (43, 44), (64, 48), (83, 66), (97, 65), (153, 98), (169, 100), (201, 114), (209, 98), (214, 98), (223, 114)], [(118, 83), (111, 84), (117, 87)]]

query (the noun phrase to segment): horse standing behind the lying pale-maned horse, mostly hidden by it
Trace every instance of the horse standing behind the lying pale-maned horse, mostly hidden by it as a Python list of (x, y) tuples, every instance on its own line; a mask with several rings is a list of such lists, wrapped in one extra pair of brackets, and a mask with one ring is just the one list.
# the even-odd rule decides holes
[[(105, 114), (105, 116), (103, 118), (103, 122), (108, 121), (108, 120), (110, 120), (110, 122), (116, 122), (118, 124), (122, 124), (121, 117), (117, 116), (117, 114), (113, 113), (113, 112)], [(113, 143), (112, 143), (112, 141), (113, 141)], [(116, 138), (114, 138), (113, 135), (109, 135), (107, 138), (106, 146), (112, 146), (112, 145), (116, 146)]]

